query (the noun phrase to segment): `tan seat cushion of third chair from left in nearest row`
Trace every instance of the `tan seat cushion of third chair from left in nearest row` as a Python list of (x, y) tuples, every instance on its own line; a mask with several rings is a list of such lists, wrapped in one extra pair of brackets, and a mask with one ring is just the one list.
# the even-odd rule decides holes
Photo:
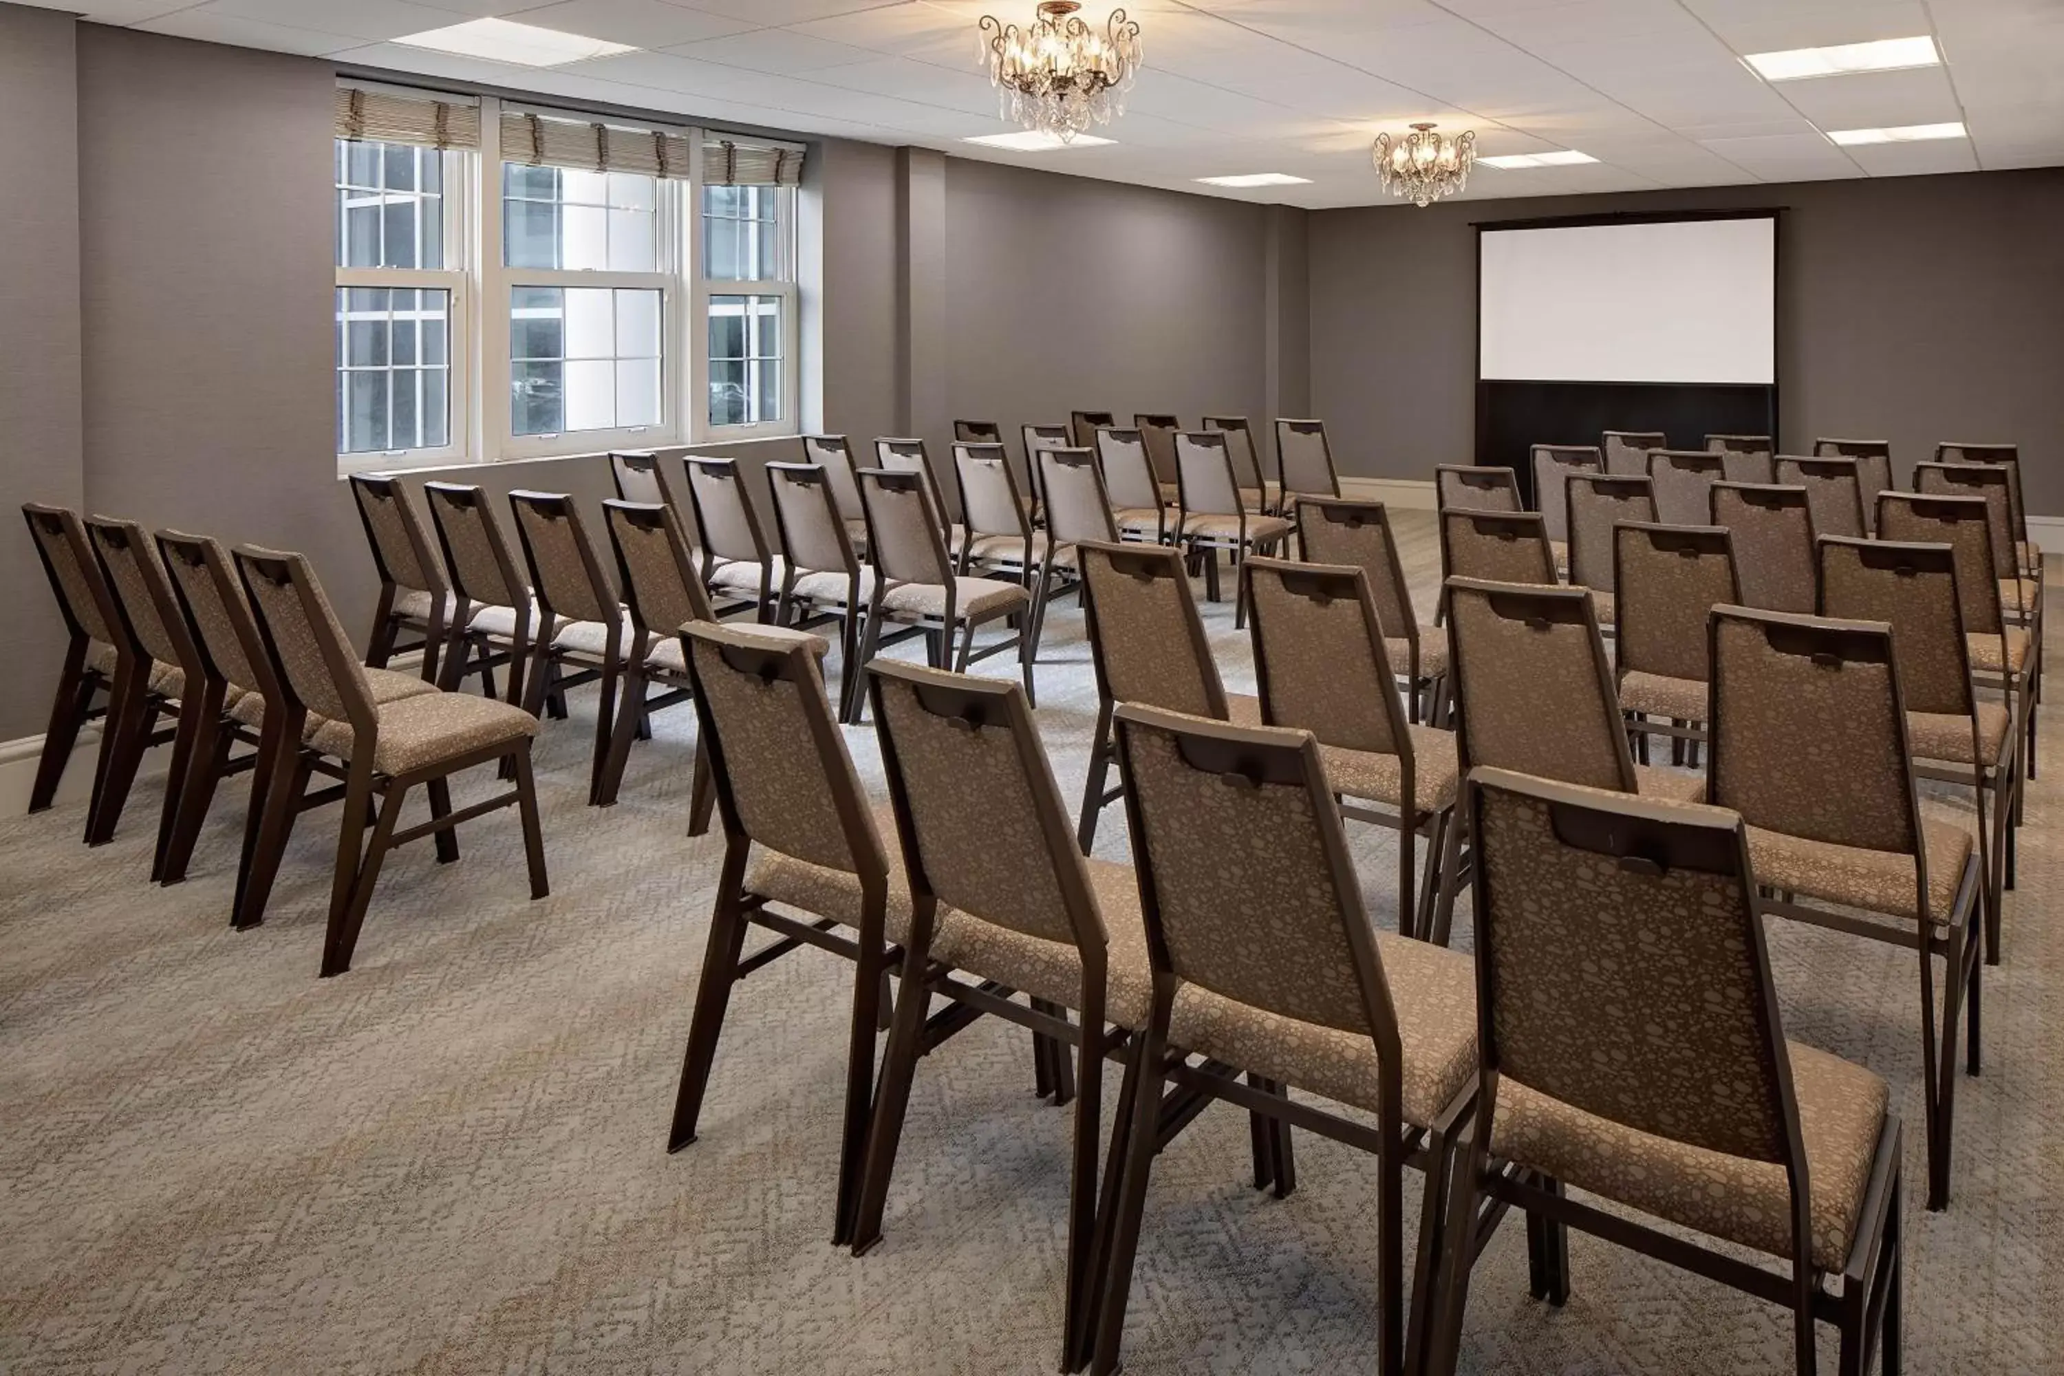
[[(1377, 932), (1397, 1009), (1404, 1118), (1428, 1126), (1476, 1079), (1476, 965), (1461, 951)], [(1375, 1112), (1377, 1044), (1366, 1031), (1269, 1013), (1201, 984), (1174, 994), (1168, 1040), (1243, 1071)]]

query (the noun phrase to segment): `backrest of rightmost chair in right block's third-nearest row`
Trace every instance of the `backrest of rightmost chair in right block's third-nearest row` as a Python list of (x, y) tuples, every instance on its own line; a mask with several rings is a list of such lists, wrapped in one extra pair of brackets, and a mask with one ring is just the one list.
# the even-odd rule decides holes
[(1893, 627), (1907, 712), (1971, 716), (1969, 642), (1948, 545), (1820, 536), (1820, 613)]

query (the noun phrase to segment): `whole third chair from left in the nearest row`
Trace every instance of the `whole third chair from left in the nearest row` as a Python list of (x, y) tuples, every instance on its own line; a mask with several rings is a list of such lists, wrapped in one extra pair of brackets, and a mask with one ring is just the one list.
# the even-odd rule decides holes
[[(1404, 1312), (1404, 1168), (1424, 1172), (1439, 1197), (1474, 1097), (1470, 961), (1370, 930), (1311, 734), (1133, 703), (1117, 720), (1154, 986), (1125, 1064), (1131, 1122), (1090, 1370), (1117, 1368), (1148, 1176), (1172, 1137), (1162, 1122), (1166, 1081), (1377, 1157), (1375, 1359), (1385, 1376), (1416, 1370)], [(1288, 1089), (1356, 1116), (1290, 1100)], [(1416, 1312), (1441, 1252), (1441, 1211), (1422, 1211)]]

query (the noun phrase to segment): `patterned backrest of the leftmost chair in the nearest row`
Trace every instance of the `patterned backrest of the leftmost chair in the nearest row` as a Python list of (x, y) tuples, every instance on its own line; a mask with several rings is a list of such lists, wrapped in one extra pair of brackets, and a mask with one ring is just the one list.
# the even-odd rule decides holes
[(745, 625), (681, 629), (724, 833), (885, 885), (888, 852), (815, 656)]

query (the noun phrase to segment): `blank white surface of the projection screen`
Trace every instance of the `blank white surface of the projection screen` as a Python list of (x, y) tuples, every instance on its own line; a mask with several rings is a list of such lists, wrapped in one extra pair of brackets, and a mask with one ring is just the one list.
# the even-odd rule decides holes
[(1478, 235), (1478, 375), (1777, 382), (1777, 221)]

